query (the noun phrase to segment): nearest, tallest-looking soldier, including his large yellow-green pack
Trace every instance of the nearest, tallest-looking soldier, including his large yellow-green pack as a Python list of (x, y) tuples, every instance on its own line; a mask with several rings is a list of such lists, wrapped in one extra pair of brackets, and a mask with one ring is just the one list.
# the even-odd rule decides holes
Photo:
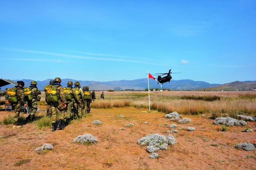
[[(47, 90), (47, 102), (50, 104), (52, 110), (52, 131), (56, 131), (57, 128), (59, 128), (60, 130), (64, 128), (63, 120), (65, 117), (66, 95), (63, 92), (63, 88), (60, 83), (61, 79), (56, 77), (54, 79), (54, 85)], [(56, 127), (56, 109), (60, 111), (60, 120), (58, 123), (58, 127)]]

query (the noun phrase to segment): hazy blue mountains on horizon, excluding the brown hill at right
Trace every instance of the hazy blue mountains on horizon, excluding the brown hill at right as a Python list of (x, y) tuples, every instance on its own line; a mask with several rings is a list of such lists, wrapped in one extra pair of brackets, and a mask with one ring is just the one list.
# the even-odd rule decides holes
[[(43, 90), (46, 84), (49, 84), (51, 79), (36, 81), (37, 87), (39, 90)], [(13, 80), (18, 81), (18, 80)], [(22, 80), (25, 83), (25, 86), (30, 86), (32, 80)], [(148, 79), (136, 79), (136, 80), (119, 80), (119, 81), (109, 81), (109, 82), (97, 82), (97, 81), (82, 81), (82, 80), (73, 80), (73, 79), (62, 79), (61, 85), (66, 87), (68, 81), (73, 83), (78, 81), (80, 85), (89, 86), (90, 90), (125, 90), (125, 89), (134, 89), (134, 90), (145, 90), (148, 88)], [(171, 90), (194, 90), (198, 88), (208, 88), (213, 86), (219, 86), (220, 84), (210, 84), (202, 81), (193, 81), (193, 80), (171, 80), (170, 82), (162, 84), (162, 88), (169, 88)], [(149, 80), (150, 88), (161, 88), (160, 84), (157, 84), (155, 80)], [(13, 85), (4, 86), (3, 88), (10, 88)], [(2, 88), (2, 90), (3, 90)]]

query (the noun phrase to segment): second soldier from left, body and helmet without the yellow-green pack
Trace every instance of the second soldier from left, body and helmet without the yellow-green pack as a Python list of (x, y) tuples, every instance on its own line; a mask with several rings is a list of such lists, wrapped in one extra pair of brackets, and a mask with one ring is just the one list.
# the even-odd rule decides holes
[(28, 117), (26, 117), (26, 120), (34, 121), (35, 119), (35, 113), (37, 111), (37, 100), (38, 100), (38, 95), (41, 94), (40, 90), (36, 87), (36, 81), (32, 81), (30, 83), (31, 86), (31, 94), (32, 94), (32, 101), (28, 102), (28, 106), (30, 107), (30, 114)]

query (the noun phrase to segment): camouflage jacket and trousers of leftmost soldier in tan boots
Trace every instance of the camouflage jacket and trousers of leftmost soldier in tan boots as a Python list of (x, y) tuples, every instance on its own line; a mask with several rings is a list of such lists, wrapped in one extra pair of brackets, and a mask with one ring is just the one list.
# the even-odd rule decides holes
[(16, 95), (18, 98), (18, 103), (12, 104), (14, 107), (14, 119), (13, 125), (18, 125), (18, 119), (20, 117), (21, 105), (26, 104), (24, 90), (21, 86), (15, 86), (17, 88)]

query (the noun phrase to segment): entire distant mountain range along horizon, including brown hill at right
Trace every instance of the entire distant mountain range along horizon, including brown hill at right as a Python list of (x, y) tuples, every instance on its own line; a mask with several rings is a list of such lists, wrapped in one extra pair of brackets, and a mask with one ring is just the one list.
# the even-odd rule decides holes
[[(49, 84), (51, 79), (36, 81), (37, 87), (39, 90), (43, 90), (46, 84)], [(18, 80), (13, 80), (18, 81)], [(32, 80), (22, 80), (25, 83), (25, 86), (29, 87)], [(90, 90), (125, 90), (125, 89), (134, 89), (134, 90), (145, 90), (148, 88), (148, 79), (136, 79), (136, 80), (116, 80), (109, 82), (98, 82), (98, 81), (82, 81), (82, 80), (73, 80), (73, 79), (62, 79), (61, 85), (66, 87), (68, 81), (80, 82), (80, 85), (89, 86)], [(155, 80), (149, 80), (150, 88), (161, 88), (160, 84), (157, 84)], [(10, 88), (13, 85), (4, 86), (4, 88)], [(242, 90), (242, 89), (254, 89), (256, 88), (256, 81), (245, 81), (245, 82), (231, 82), (226, 84), (210, 84), (202, 81), (193, 81), (193, 80), (171, 80), (170, 82), (162, 84), (162, 88), (169, 88), (171, 90)]]

